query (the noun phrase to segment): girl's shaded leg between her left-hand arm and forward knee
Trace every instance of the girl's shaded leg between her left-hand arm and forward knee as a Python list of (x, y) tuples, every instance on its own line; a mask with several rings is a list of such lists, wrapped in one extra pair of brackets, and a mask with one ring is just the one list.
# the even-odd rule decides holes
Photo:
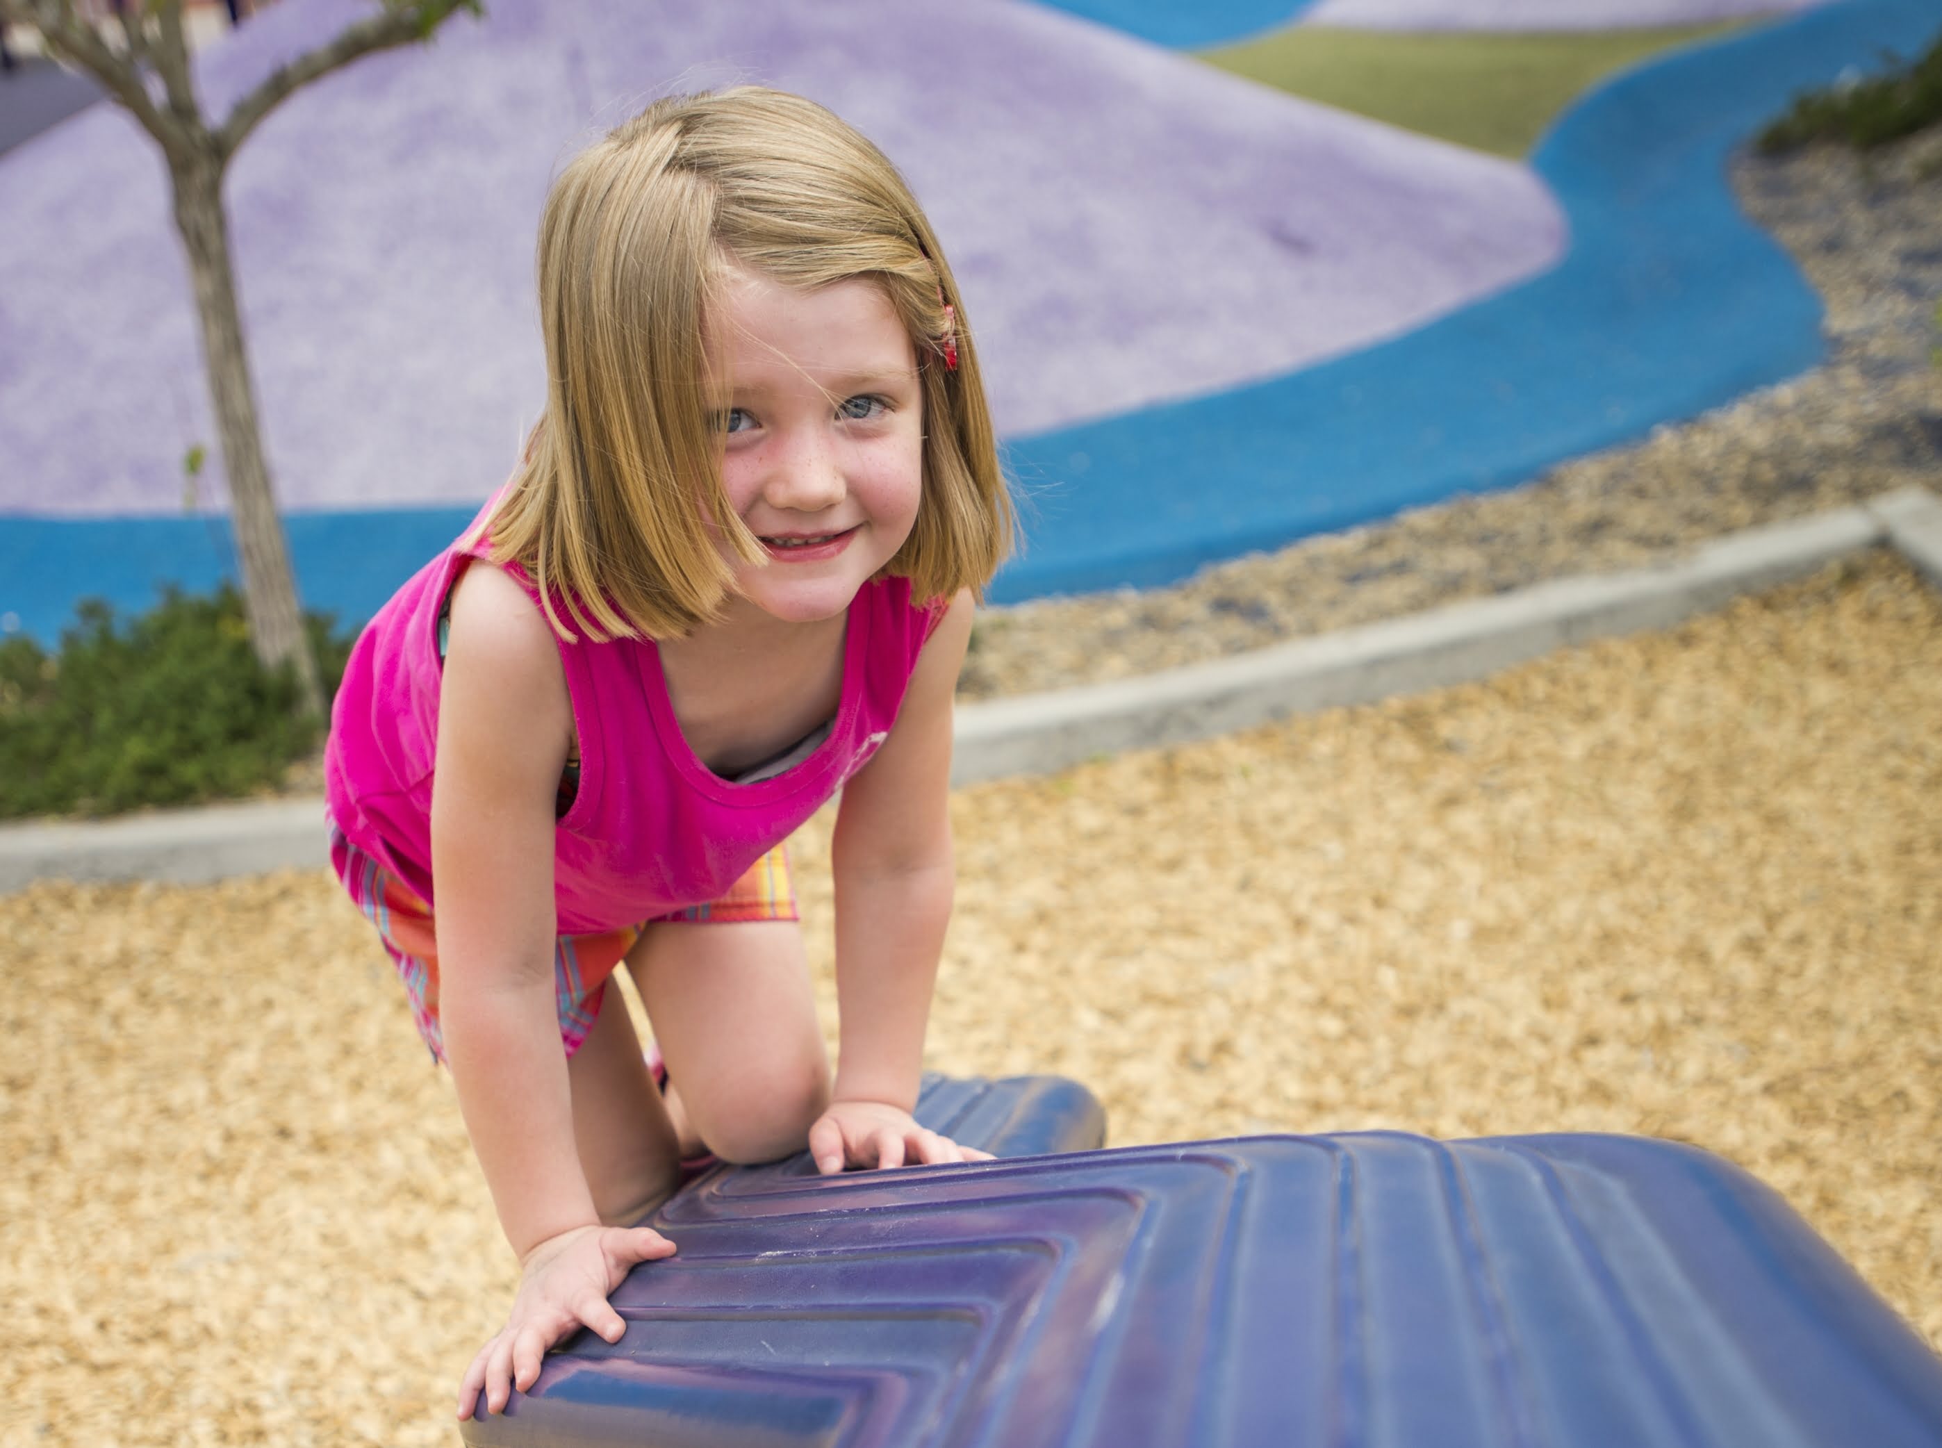
[(631, 1227), (674, 1192), (680, 1145), (618, 988), (567, 1062), (567, 1085), (594, 1211), (610, 1227)]

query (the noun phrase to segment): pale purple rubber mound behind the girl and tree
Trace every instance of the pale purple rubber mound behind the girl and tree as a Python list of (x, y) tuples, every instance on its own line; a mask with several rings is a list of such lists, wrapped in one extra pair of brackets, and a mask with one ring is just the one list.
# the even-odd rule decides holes
[[(219, 109), (363, 14), (284, 0), (202, 64)], [(495, 0), (293, 97), (229, 202), (287, 507), (464, 503), (542, 396), (546, 184), (654, 93), (806, 91), (911, 177), (1000, 427), (1035, 433), (1394, 338), (1556, 262), (1532, 173), (1012, 0)], [(0, 157), (0, 514), (177, 514), (219, 458), (159, 157), (101, 105)]]

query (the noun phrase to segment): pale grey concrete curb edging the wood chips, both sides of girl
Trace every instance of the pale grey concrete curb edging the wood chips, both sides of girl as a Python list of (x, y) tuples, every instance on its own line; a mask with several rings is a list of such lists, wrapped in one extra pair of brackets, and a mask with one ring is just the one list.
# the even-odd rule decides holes
[[(1878, 543), (1901, 549), (1942, 588), (1942, 499), (1907, 487), (1730, 534), (1666, 567), (1561, 578), (1136, 679), (965, 705), (952, 782), (1045, 774), (1095, 755), (1466, 683), (1567, 644), (1670, 627)], [(324, 858), (322, 800), (0, 825), (0, 891), (45, 877), (206, 883)]]

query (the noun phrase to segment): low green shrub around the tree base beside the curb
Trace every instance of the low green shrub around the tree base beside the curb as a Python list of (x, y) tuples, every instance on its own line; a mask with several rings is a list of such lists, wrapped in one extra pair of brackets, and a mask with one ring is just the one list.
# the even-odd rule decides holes
[[(326, 615), (305, 623), (334, 691), (352, 637)], [(58, 654), (0, 641), (0, 819), (258, 792), (322, 736), (324, 722), (295, 708), (293, 672), (256, 660), (233, 586), (165, 590), (126, 623), (84, 602)]]

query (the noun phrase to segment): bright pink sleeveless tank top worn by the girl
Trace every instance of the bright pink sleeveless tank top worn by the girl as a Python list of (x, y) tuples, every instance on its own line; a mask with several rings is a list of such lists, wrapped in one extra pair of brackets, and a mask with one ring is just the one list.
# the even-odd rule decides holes
[[(486, 547), (454, 543), (379, 609), (344, 670), (324, 747), (332, 821), (433, 906), (439, 609), (458, 569)], [(507, 573), (538, 608), (526, 573)], [(884, 743), (940, 617), (911, 602), (909, 578), (864, 584), (849, 608), (843, 697), (829, 738), (781, 774), (750, 784), (720, 778), (687, 747), (651, 641), (561, 642), (581, 780), (553, 825), (557, 930), (619, 930), (726, 893)]]

